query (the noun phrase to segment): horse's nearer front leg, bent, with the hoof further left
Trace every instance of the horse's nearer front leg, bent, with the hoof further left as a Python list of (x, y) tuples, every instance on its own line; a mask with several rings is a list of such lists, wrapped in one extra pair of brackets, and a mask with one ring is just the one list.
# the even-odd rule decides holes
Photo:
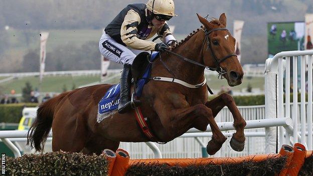
[[(172, 110), (169, 114), (169, 123), (172, 130), (177, 131), (177, 127), (180, 127), (182, 131), (189, 129), (191, 125), (198, 126), (201, 130), (206, 130), (208, 123), (212, 129), (212, 139), (208, 142), (207, 152), (209, 154), (215, 154), (226, 141), (226, 137), (223, 135), (219, 127), (217, 126), (212, 110), (206, 107), (204, 104), (198, 104), (192, 107), (180, 108)], [(201, 124), (201, 125), (200, 125)], [(182, 133), (182, 131), (179, 131)]]

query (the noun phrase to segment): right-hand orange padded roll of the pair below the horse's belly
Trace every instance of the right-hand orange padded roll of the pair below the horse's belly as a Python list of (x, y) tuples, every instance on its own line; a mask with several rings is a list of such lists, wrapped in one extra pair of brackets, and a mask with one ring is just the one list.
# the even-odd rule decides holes
[(112, 176), (124, 176), (128, 169), (129, 154), (123, 149), (116, 150), (116, 159), (113, 166)]

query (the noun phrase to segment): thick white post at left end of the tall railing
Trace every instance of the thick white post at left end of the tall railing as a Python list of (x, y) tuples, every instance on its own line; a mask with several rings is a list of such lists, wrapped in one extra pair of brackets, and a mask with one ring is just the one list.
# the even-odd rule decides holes
[[(270, 70), (272, 58), (265, 62), (265, 118), (277, 117), (276, 113), (276, 76), (277, 72)], [(276, 127), (265, 128), (265, 152), (275, 153), (276, 151)]]

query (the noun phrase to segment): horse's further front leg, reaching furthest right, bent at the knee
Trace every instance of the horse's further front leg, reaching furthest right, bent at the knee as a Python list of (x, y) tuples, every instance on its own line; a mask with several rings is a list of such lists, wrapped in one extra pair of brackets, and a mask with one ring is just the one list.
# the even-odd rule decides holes
[(214, 117), (221, 111), (224, 106), (228, 107), (233, 115), (234, 127), (236, 129), (236, 132), (233, 134), (230, 140), (230, 146), (236, 151), (242, 151), (245, 142), (244, 127), (246, 126), (246, 121), (242, 118), (233, 97), (227, 93), (223, 93), (213, 100), (208, 101), (206, 103), (206, 106), (212, 109)]

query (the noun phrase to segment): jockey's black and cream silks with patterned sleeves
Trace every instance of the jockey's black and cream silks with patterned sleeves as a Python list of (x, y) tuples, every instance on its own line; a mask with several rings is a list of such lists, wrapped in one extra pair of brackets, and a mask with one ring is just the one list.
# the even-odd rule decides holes
[(121, 45), (143, 51), (154, 51), (155, 43), (146, 39), (155, 34), (162, 35), (164, 42), (172, 35), (168, 24), (158, 29), (148, 22), (145, 4), (128, 5), (105, 28), (105, 33)]

